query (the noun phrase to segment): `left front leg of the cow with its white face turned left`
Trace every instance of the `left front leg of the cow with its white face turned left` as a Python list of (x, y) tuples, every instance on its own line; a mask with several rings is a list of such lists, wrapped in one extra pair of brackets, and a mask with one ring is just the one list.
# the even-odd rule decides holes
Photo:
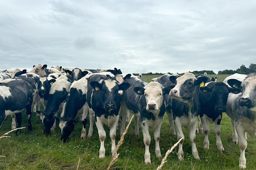
[[(182, 132), (182, 125), (181, 125), (181, 122), (180, 122), (180, 118), (176, 117), (174, 122), (175, 122), (175, 128), (176, 128), (177, 137), (178, 137), (178, 141), (179, 141), (181, 138), (184, 138), (184, 134)], [(184, 139), (182, 139), (180, 141), (180, 143), (179, 143), (178, 159), (180, 161), (184, 160), (184, 152), (182, 150), (183, 142), (184, 142)]]

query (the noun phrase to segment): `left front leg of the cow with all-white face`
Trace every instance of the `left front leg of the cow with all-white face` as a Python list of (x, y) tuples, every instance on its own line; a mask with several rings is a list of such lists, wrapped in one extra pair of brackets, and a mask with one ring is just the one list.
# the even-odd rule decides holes
[(142, 129), (142, 133), (143, 133), (143, 141), (145, 144), (145, 155), (144, 155), (145, 160), (144, 160), (144, 162), (145, 162), (145, 164), (151, 164), (150, 153), (149, 153), (149, 144), (150, 144), (151, 138), (150, 138), (150, 135), (148, 132), (148, 123), (147, 122), (141, 123), (141, 129)]

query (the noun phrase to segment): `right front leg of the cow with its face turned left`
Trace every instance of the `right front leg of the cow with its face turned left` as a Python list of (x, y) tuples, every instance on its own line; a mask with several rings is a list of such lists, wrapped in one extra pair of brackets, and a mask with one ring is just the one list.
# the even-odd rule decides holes
[[(196, 149), (196, 126), (198, 126), (198, 117), (194, 117), (193, 119), (195, 119), (195, 123), (192, 124), (189, 128), (189, 138), (192, 145), (192, 154), (196, 159), (200, 160), (198, 151)], [(191, 122), (194, 122), (193, 119)]]

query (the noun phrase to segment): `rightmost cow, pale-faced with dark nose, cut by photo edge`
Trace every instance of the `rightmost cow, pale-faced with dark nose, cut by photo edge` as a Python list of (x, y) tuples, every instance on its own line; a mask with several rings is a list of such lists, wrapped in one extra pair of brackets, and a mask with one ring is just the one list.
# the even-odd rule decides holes
[[(242, 77), (243, 75), (240, 76)], [(245, 132), (248, 132), (252, 138), (256, 135), (256, 73), (247, 76), (243, 82), (236, 79), (229, 79), (227, 82), (231, 87), (241, 89), (241, 93), (228, 96), (226, 113), (235, 122), (241, 150), (239, 167), (244, 169), (246, 168), (245, 149), (247, 147)]]

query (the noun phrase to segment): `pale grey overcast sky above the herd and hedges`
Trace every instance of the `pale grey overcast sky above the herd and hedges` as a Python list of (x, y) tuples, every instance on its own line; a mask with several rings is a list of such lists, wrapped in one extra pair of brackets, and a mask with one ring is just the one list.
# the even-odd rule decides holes
[(256, 1), (0, 1), (0, 70), (33, 65), (128, 73), (256, 63)]

